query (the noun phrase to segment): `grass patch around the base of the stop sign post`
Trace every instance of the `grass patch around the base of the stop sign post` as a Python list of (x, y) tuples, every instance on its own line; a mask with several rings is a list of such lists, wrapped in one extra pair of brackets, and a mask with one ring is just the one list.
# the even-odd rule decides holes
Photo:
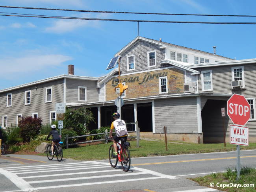
[[(204, 177), (190, 178), (200, 185), (215, 188), (228, 192), (255, 192), (256, 191), (256, 170), (252, 168), (241, 168), (240, 179), (236, 181), (236, 171), (230, 169), (226, 173), (211, 174)], [(214, 183), (214, 187), (211, 186)], [(254, 184), (254, 186), (244, 186), (244, 184)], [(227, 186), (229, 185), (229, 186)], [(230, 187), (231, 185), (231, 187)], [(218, 187), (219, 186), (219, 187)]]

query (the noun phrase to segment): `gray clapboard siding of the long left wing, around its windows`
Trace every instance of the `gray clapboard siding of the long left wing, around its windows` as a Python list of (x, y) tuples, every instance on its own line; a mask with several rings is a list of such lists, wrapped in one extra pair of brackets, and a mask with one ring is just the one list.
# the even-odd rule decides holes
[[(57, 102), (63, 102), (63, 79), (41, 83), (30, 87), (3, 92), (0, 94), (0, 125), (2, 126), (2, 116), (7, 115), (7, 127), (11, 124), (16, 126), (17, 114), (23, 117), (32, 116), (32, 113), (38, 113), (43, 119), (43, 124), (50, 122), (50, 111), (55, 111)], [(52, 102), (45, 103), (45, 89), (52, 87)], [(31, 90), (31, 104), (25, 105), (25, 91)], [(6, 94), (12, 93), (12, 106), (6, 107)]]

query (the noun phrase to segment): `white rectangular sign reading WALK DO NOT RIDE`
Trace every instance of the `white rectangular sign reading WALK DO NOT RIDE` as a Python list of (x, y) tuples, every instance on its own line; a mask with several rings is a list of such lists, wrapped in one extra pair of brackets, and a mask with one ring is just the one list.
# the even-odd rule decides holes
[(249, 146), (248, 127), (230, 125), (230, 144)]

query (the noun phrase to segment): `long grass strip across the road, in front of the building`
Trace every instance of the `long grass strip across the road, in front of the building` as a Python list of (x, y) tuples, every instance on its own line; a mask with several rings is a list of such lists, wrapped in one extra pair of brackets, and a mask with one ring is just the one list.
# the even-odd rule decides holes
[[(165, 150), (165, 142), (140, 140), (139, 148), (136, 148), (136, 140), (130, 141), (131, 157), (147, 157), (155, 155), (177, 155), (187, 153), (209, 153), (219, 151), (235, 151), (236, 145), (226, 144), (177, 144), (168, 143), (168, 151)], [(184, 142), (183, 142), (184, 143)], [(108, 159), (108, 150), (112, 142), (108, 144), (96, 144), (87, 146), (78, 146), (63, 150), (63, 157), (76, 160), (102, 160)], [(250, 143), (248, 147), (241, 146), (241, 150), (256, 149), (256, 143)]]

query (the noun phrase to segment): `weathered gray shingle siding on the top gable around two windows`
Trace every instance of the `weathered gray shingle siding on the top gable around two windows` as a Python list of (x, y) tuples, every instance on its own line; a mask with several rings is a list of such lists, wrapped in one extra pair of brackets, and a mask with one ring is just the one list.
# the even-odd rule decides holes
[[(140, 55), (139, 55), (140, 50)], [(148, 52), (156, 51), (156, 66), (148, 67)], [(134, 70), (127, 71), (127, 56), (134, 55)], [(151, 70), (160, 68), (160, 61), (165, 59), (165, 49), (160, 49), (159, 45), (151, 44), (145, 41), (137, 41), (120, 57), (120, 66), (122, 67), (122, 74), (138, 72), (142, 70)]]

